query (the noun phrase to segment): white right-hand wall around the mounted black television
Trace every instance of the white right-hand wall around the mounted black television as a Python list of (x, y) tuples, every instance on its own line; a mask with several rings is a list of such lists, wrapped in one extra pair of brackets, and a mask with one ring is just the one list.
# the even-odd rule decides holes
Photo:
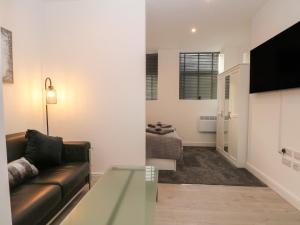
[[(252, 47), (300, 20), (299, 0), (270, 0), (253, 18)], [(300, 209), (300, 174), (281, 163), (282, 147), (300, 152), (300, 89), (250, 95), (248, 166)]]

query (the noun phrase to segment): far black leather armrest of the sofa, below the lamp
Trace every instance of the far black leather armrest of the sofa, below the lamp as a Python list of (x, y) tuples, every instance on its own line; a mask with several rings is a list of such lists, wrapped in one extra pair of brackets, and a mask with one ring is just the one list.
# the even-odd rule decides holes
[(91, 144), (85, 141), (64, 142), (63, 160), (65, 162), (89, 162)]

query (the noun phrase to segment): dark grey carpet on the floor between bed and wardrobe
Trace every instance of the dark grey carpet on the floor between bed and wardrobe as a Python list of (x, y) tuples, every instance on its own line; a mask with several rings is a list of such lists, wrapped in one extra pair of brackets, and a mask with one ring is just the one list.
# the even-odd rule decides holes
[(184, 147), (183, 162), (177, 171), (160, 171), (159, 182), (169, 184), (208, 184), (265, 187), (248, 170), (228, 162), (214, 148)]

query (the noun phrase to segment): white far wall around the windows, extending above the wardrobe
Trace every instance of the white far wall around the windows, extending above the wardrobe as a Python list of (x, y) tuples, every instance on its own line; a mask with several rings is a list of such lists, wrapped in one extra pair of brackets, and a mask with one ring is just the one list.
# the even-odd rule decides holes
[[(149, 45), (150, 43), (151, 40), (148, 40)], [(198, 42), (198, 47), (191, 47), (189, 43), (186, 43), (185, 47), (148, 50), (158, 52), (159, 68), (158, 100), (147, 101), (147, 123), (161, 121), (173, 124), (185, 145), (215, 146), (215, 133), (199, 133), (198, 122), (202, 115), (217, 114), (217, 100), (179, 100), (179, 53), (219, 51), (225, 56), (224, 67), (227, 70), (242, 63), (243, 53), (249, 51), (250, 26), (231, 32), (226, 31), (218, 38), (202, 38)]]

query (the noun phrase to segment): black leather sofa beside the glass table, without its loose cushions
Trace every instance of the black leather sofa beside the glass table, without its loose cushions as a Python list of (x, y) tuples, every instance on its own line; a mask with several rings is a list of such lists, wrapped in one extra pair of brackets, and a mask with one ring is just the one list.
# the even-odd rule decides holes
[[(6, 136), (8, 162), (25, 153), (25, 133)], [(13, 225), (47, 224), (86, 184), (90, 184), (90, 143), (66, 142), (63, 164), (11, 190)]]

